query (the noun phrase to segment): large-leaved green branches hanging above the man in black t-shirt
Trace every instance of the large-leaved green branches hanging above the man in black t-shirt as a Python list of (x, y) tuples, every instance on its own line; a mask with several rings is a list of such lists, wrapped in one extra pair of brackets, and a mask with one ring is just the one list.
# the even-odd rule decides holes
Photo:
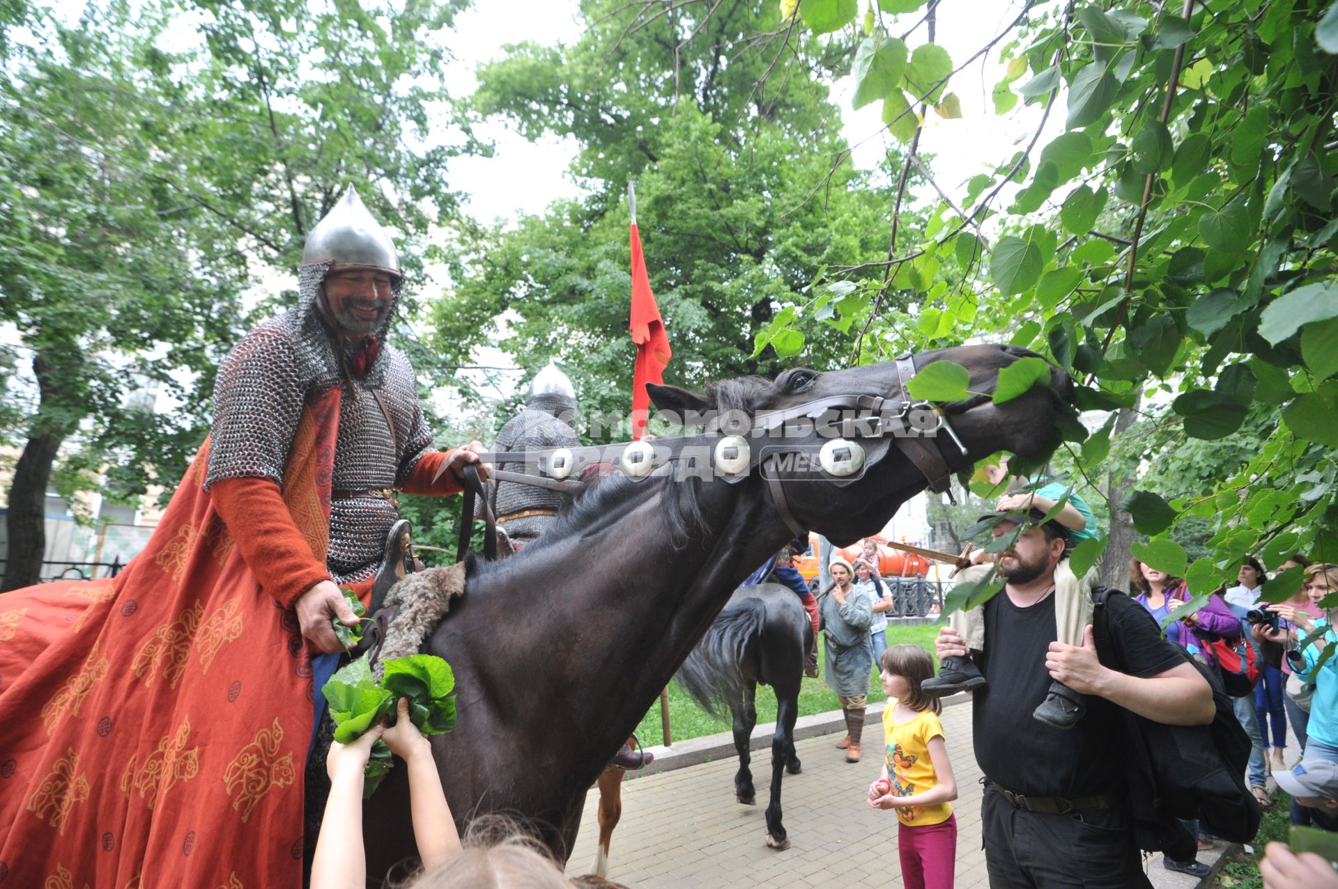
[[(1124, 500), (1135, 523), (1156, 525), (1136, 551), (1187, 571), (1199, 592), (1231, 580), (1246, 553), (1270, 567), (1293, 551), (1338, 559), (1331, 11), (1317, 28), (1327, 5), (1028, 4), (993, 44), (1009, 72), (995, 108), (1042, 106), (1062, 135), (1037, 144), (1037, 130), (995, 175), (949, 195), (965, 217), (941, 209), (945, 231), (894, 257), (959, 258), (951, 291), (978, 310), (943, 328), (933, 313), (951, 305), (930, 290), (918, 311), (882, 311), (871, 329), (919, 346), (1010, 340), (1069, 369), (1082, 409), (1121, 410), (1098, 444), (1068, 444), (1070, 461), (1107, 493), (1127, 493), (1103, 483), (1112, 460), (1159, 483), (1163, 497), (1121, 493), (1112, 515)], [(872, 35), (892, 39), (921, 12), (871, 23)], [(854, 32), (855, 13), (842, 16), (838, 35)], [(884, 102), (933, 86), (903, 75)], [(1022, 186), (1012, 206), (994, 201), (1005, 180)], [(995, 233), (986, 257), (977, 222)], [(852, 283), (870, 301), (882, 287)], [(1157, 469), (1168, 465), (1188, 472)], [(1172, 537), (1202, 536), (1191, 516), (1212, 536), (1187, 561)]]

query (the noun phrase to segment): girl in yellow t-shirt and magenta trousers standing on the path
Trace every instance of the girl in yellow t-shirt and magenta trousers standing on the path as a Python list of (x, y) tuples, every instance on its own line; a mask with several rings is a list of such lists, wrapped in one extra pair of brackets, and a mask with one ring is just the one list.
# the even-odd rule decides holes
[[(868, 787), (868, 805), (892, 809), (906, 889), (953, 889), (957, 861), (957, 779), (943, 745), (942, 705), (921, 691), (934, 675), (934, 662), (919, 646), (892, 646), (883, 652), (883, 738), (887, 755)], [(895, 705), (891, 701), (895, 698)]]

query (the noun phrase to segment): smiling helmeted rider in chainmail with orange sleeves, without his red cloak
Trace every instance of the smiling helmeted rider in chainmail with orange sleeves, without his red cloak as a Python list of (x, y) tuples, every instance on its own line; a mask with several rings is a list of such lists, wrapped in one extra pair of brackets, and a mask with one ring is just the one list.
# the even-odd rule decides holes
[[(343, 650), (332, 618), (356, 623), (339, 584), (376, 574), (399, 519), (395, 492), (455, 493), (483, 449), (432, 447), (413, 369), (385, 342), (403, 282), (395, 245), (349, 188), (306, 238), (298, 305), (242, 337), (218, 372), (205, 489), (261, 588), (296, 610), (322, 652)], [(304, 405), (336, 388), (322, 560), (293, 525), (280, 483)]]

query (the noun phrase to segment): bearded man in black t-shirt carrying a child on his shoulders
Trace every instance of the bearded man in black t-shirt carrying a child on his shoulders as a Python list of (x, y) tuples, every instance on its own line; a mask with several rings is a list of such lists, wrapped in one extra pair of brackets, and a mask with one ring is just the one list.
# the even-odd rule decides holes
[[(1041, 517), (1010, 516), (993, 533)], [(974, 692), (971, 730), (985, 773), (981, 821), (990, 886), (1151, 886), (1133, 842), (1117, 707), (1167, 725), (1208, 725), (1212, 690), (1127, 596), (1111, 598), (1108, 619), (1115, 654), (1129, 672), (1101, 666), (1090, 626), (1081, 646), (1057, 642), (1054, 567), (1064, 544), (1064, 529), (1048, 521), (1032, 524), (1002, 553), (998, 567), (1008, 583), (982, 606), (985, 651), (967, 651), (951, 627), (935, 642), (941, 660), (970, 654), (987, 680)], [(1089, 695), (1077, 727), (1032, 718), (1052, 680)]]

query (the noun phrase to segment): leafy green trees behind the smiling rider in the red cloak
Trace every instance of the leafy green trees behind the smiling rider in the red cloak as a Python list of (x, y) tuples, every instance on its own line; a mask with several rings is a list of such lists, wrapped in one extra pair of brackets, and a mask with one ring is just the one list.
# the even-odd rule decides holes
[[(0, 385), (23, 445), (5, 588), (36, 580), (63, 448), (74, 488), (91, 483), (79, 468), (107, 468), (124, 496), (179, 477), (242, 293), (292, 274), (344, 187), (421, 267), (454, 209), (446, 160), (472, 144), (411, 144), (447, 99), (436, 36), (460, 5), (107, 3), (78, 21), (0, 5), (0, 322), (21, 344), (5, 364), (35, 384)], [(292, 302), (266, 295), (252, 321)], [(127, 396), (149, 381), (175, 406), (138, 409)]]

